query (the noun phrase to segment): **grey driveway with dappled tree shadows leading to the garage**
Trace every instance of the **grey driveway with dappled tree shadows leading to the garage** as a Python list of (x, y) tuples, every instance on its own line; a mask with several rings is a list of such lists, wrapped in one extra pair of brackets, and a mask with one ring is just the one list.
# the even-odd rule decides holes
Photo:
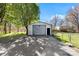
[(72, 56), (79, 53), (52, 36), (25, 36), (0, 43), (1, 56)]

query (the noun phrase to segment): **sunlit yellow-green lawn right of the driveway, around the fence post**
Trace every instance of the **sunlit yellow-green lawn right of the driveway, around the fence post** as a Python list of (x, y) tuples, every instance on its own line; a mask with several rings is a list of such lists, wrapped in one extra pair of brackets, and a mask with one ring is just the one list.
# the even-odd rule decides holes
[[(79, 33), (71, 33), (71, 43), (73, 44), (73, 46), (79, 48)], [(70, 42), (70, 36), (69, 33), (56, 33), (57, 38), (59, 38), (59, 40), (63, 41), (64, 43), (66, 42)]]

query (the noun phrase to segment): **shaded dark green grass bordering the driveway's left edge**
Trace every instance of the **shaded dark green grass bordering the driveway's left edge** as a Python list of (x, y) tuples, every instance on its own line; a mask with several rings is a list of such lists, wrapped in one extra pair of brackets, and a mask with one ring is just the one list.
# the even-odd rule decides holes
[(26, 36), (24, 33), (20, 33), (20, 34), (13, 34), (13, 35), (8, 35), (8, 36), (1, 36), (0, 37), (0, 43), (8, 43), (8, 42), (13, 42), (16, 39), (18, 39), (19, 37), (23, 37)]

